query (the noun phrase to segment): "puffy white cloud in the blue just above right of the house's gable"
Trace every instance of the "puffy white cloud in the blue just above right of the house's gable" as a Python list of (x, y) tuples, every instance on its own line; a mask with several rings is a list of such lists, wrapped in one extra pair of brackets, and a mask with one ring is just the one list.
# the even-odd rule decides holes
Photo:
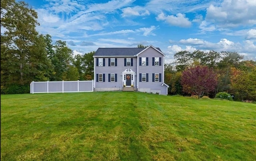
[(163, 13), (158, 14), (156, 17), (158, 21), (165, 21), (166, 23), (172, 26), (179, 26), (179, 27), (190, 27), (191, 22), (186, 18), (185, 14), (178, 13), (176, 16), (169, 15), (165, 16)]

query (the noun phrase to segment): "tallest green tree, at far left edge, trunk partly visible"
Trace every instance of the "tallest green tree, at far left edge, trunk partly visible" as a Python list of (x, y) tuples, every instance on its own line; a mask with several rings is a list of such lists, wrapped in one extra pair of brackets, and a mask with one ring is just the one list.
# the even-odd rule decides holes
[(1, 27), (6, 29), (1, 35), (1, 56), (12, 58), (9, 71), (11, 74), (19, 74), (15, 76), (18, 78), (14, 80), (16, 83), (27, 83), (24, 75), (29, 73), (29, 52), (38, 37), (35, 29), (39, 25), (37, 18), (37, 12), (28, 8), (25, 2), (1, 0)]

